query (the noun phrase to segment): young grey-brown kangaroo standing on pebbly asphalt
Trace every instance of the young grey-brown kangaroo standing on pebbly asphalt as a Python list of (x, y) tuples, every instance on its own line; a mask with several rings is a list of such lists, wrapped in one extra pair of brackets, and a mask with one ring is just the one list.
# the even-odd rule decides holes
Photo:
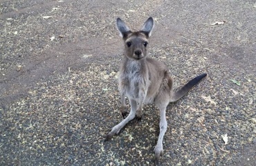
[[(124, 120), (111, 129), (105, 140), (109, 140), (115, 134), (118, 134), (120, 129), (125, 127), (125, 124), (130, 120), (134, 118), (138, 121), (141, 120), (143, 104), (155, 103), (160, 110), (160, 133), (154, 148), (156, 163), (158, 163), (161, 154), (163, 154), (163, 136), (167, 130), (167, 120), (165, 118), (167, 105), (182, 98), (207, 74), (203, 73), (194, 77), (179, 91), (174, 92), (172, 90), (173, 79), (168, 73), (167, 66), (156, 59), (147, 57), (148, 39), (154, 28), (153, 18), (149, 17), (143, 28), (136, 32), (131, 32), (120, 18), (116, 19), (116, 26), (125, 42), (125, 57), (120, 66), (118, 78), (121, 96), (120, 111)], [(129, 114), (125, 109), (125, 96), (128, 97), (131, 106)]]

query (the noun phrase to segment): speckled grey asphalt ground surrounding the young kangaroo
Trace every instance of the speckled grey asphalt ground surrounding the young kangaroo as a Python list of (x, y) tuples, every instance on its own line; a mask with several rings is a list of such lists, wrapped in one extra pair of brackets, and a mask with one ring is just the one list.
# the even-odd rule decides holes
[(167, 108), (161, 165), (256, 165), (255, 0), (0, 2), (0, 165), (153, 164), (154, 104), (104, 142), (122, 120), (117, 17), (154, 18), (175, 89), (208, 73)]

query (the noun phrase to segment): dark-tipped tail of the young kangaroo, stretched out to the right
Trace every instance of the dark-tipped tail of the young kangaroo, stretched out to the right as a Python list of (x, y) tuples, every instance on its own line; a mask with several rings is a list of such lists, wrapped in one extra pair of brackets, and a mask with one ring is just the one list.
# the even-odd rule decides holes
[(185, 95), (186, 93), (188, 93), (188, 91), (190, 91), (190, 89), (192, 89), (196, 84), (201, 82), (201, 80), (204, 77), (206, 77), (206, 75), (207, 75), (206, 73), (203, 73), (203, 74), (201, 74), (201, 75), (199, 75), (197, 77), (194, 77), (192, 80), (190, 80), (190, 82), (185, 84), (185, 86), (183, 86), (179, 91), (174, 92), (170, 102), (176, 102), (177, 100), (182, 98), (183, 95)]

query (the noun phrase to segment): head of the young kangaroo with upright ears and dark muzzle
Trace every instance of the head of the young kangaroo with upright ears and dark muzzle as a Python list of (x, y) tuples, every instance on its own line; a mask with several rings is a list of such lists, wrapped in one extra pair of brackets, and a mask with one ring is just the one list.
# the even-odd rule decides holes
[(149, 17), (149, 19), (145, 21), (143, 28), (137, 32), (131, 32), (125, 22), (120, 18), (116, 19), (116, 26), (118, 27), (120, 36), (125, 42), (126, 56), (136, 60), (146, 57), (147, 39), (150, 37), (152, 29), (154, 28), (153, 18)]

